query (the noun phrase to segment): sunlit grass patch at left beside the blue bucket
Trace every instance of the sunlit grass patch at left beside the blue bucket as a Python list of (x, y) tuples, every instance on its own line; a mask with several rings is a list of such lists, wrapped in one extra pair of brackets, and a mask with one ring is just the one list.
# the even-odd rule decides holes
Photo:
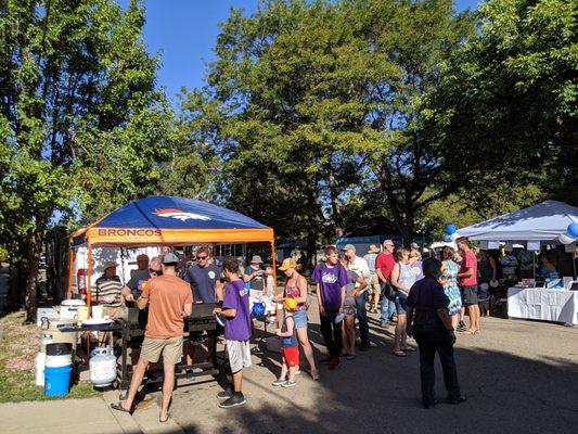
[[(25, 314), (7, 315), (2, 322), (0, 341), (0, 403), (23, 400), (50, 400), (43, 387), (36, 385), (34, 373), (36, 354), (39, 349), (39, 328), (24, 323)], [(65, 398), (88, 398), (100, 396), (89, 382), (80, 382), (70, 387)]]

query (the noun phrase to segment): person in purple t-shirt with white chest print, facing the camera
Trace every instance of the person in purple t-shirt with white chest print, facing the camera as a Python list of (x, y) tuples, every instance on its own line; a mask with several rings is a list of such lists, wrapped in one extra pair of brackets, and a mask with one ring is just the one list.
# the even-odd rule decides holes
[(317, 303), (321, 320), (321, 334), (330, 353), (321, 360), (330, 363), (333, 371), (341, 365), (342, 323), (335, 323), (335, 318), (342, 314), (345, 302), (345, 286), (347, 285), (347, 270), (339, 264), (339, 255), (333, 246), (325, 248), (325, 263), (318, 264), (313, 270), (313, 281), (317, 283)]

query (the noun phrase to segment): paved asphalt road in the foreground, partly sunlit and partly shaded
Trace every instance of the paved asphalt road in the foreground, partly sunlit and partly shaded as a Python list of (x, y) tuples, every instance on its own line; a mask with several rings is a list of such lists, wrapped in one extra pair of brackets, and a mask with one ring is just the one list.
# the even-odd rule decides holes
[[(317, 312), (310, 336), (323, 347)], [(273, 388), (280, 355), (254, 349), (246, 369), (247, 405), (223, 410), (216, 382), (178, 388), (171, 418), (188, 433), (577, 433), (578, 329), (560, 324), (483, 319), (483, 333), (460, 335), (457, 361), (468, 400), (425, 410), (420, 401), (418, 354), (394, 357), (391, 332), (371, 315), (374, 347), (344, 360), (313, 382)], [(439, 366), (437, 393), (445, 397)], [(155, 394), (158, 396), (158, 394)]]

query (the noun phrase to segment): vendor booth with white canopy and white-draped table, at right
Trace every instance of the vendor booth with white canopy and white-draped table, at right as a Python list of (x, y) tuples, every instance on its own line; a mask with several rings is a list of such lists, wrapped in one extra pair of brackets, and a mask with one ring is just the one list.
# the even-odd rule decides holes
[[(458, 233), (479, 241), (481, 248), (499, 248), (500, 242), (506, 242), (539, 252), (545, 245), (560, 245), (560, 240), (567, 237), (568, 226), (574, 222), (578, 222), (577, 207), (545, 201), (459, 229)], [(556, 285), (560, 288), (548, 288), (552, 286), (548, 283), (537, 285), (536, 280), (531, 279), (508, 289), (509, 317), (578, 324), (578, 291), (571, 291), (576, 288), (573, 283), (576, 279), (576, 241), (567, 243), (565, 251), (571, 255), (574, 276), (561, 279)]]

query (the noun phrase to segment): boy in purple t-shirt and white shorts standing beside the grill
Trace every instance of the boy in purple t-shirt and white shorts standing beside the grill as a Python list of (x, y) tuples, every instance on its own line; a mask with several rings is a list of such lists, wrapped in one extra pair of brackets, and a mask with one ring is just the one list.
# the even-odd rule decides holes
[(224, 290), (222, 307), (216, 307), (213, 311), (215, 315), (224, 317), (227, 355), (233, 374), (232, 390), (229, 387), (217, 394), (219, 399), (226, 399), (219, 404), (221, 408), (237, 407), (246, 403), (241, 392), (241, 383), (243, 381), (243, 368), (251, 366), (251, 311), (248, 290), (237, 271), (239, 263), (236, 259), (227, 257), (222, 264), (222, 272), (229, 284)]

